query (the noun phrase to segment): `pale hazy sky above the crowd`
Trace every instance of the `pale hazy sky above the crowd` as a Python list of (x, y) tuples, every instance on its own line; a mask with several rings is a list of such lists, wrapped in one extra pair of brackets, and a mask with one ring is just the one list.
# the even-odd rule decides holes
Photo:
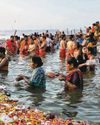
[(64, 30), (96, 21), (100, 0), (0, 0), (0, 30)]

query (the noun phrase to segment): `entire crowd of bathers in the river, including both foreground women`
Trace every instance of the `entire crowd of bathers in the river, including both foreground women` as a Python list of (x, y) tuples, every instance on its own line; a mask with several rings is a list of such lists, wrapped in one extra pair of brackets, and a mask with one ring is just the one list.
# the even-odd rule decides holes
[(41, 58), (45, 58), (46, 53), (53, 53), (56, 49), (59, 49), (60, 59), (66, 62), (67, 75), (59, 74), (59, 80), (65, 81), (65, 90), (83, 88), (82, 74), (95, 71), (95, 64), (89, 64), (87, 61), (95, 59), (97, 55), (97, 43), (100, 42), (99, 21), (87, 27), (86, 33), (80, 30), (74, 35), (66, 35), (65, 32), (59, 31), (52, 34), (46, 31), (42, 34), (22, 34), (22, 37), (19, 37), (16, 33), (15, 31), (14, 36), (0, 46), (0, 72), (9, 70), (10, 57), (19, 54), (22, 58), (32, 58), (32, 77), (19, 75), (17, 81), (24, 80), (35, 87), (45, 88), (46, 74), (42, 68)]

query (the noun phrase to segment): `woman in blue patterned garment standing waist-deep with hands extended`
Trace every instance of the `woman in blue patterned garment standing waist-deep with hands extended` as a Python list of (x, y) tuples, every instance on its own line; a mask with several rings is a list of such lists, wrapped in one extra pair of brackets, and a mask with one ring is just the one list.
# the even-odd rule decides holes
[(16, 80), (24, 80), (25, 83), (28, 85), (31, 85), (36, 88), (46, 88), (46, 77), (45, 77), (45, 72), (42, 68), (43, 62), (42, 59), (39, 56), (34, 55), (32, 57), (32, 64), (31, 68), (33, 69), (31, 78), (24, 76), (24, 75), (19, 75)]

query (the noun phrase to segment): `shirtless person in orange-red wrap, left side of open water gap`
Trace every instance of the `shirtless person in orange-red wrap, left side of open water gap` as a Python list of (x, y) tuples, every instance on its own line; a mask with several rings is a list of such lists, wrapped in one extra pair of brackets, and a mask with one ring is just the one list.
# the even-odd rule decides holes
[(39, 45), (39, 56), (40, 57), (45, 57), (46, 55), (46, 37), (42, 37), (42, 41)]

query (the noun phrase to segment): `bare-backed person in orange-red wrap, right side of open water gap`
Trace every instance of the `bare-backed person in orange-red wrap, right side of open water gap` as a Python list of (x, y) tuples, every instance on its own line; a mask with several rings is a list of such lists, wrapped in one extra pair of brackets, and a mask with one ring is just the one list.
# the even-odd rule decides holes
[(60, 50), (59, 50), (59, 56), (60, 59), (65, 59), (66, 57), (66, 41), (65, 41), (65, 36), (61, 36), (61, 41), (60, 41)]

